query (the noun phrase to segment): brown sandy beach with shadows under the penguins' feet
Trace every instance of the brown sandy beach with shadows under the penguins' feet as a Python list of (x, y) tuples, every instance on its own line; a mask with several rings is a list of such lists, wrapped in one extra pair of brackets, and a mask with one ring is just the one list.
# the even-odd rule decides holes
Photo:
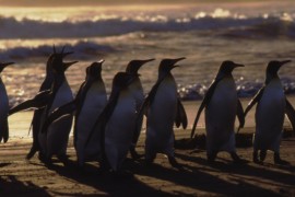
[[(294, 96), (288, 97), (294, 105)], [(249, 100), (243, 100), (246, 106)], [(0, 196), (295, 196), (295, 138), (284, 138), (281, 143), (282, 159), (291, 162), (288, 166), (274, 165), (272, 152), (263, 165), (251, 162), (252, 148), (237, 148), (237, 153), (249, 162), (235, 165), (231, 157), (219, 153), (216, 162), (209, 165), (202, 148), (184, 146), (190, 136), (190, 128), (200, 102), (185, 102), (189, 117), (187, 130), (175, 129), (176, 159), (184, 165), (182, 171), (173, 169), (166, 157), (157, 154), (155, 163), (148, 166), (143, 160), (131, 161), (123, 170), (128, 176), (101, 173), (98, 164), (91, 162), (82, 170), (63, 166), (54, 160), (48, 169), (35, 155), (26, 161), (32, 139), (27, 137), (32, 112), (15, 114), (9, 118), (11, 138), (0, 144)], [(247, 117), (246, 128), (240, 134), (253, 131), (253, 113)], [(203, 134), (203, 117), (198, 124), (197, 134)], [(286, 130), (290, 130), (287, 121)], [(13, 135), (17, 131), (17, 135)], [(20, 137), (20, 134), (23, 136)], [(138, 150), (143, 153), (144, 134), (141, 135)], [(72, 138), (68, 154), (74, 163), (75, 153)]]

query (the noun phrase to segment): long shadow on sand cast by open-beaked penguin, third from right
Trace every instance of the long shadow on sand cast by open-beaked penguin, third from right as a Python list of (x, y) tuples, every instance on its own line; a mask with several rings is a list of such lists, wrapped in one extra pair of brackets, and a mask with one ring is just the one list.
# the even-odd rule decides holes
[[(222, 196), (233, 196), (237, 194), (243, 194), (247, 192), (247, 194), (261, 194), (261, 195), (274, 195), (275, 193), (263, 189), (259, 186), (243, 183), (245, 185), (244, 188), (237, 187), (236, 184), (231, 183), (220, 176), (214, 174), (210, 174), (206, 172), (206, 169), (199, 169), (194, 165), (184, 164), (181, 161), (188, 157), (182, 153), (175, 153), (175, 157), (179, 160), (179, 164), (184, 166), (184, 170), (179, 171), (174, 167), (170, 167), (168, 164), (163, 165), (165, 161), (156, 161), (149, 167), (141, 166), (139, 164), (137, 169), (133, 169), (133, 172), (138, 175), (142, 175), (144, 177), (156, 178), (158, 182), (170, 182), (174, 185), (185, 188), (197, 189), (201, 192), (214, 193)], [(184, 158), (182, 158), (184, 157)], [(190, 155), (188, 157), (190, 159)], [(206, 163), (205, 160), (193, 158), (193, 162), (196, 160), (198, 162)], [(161, 164), (160, 164), (161, 163)], [(214, 171), (214, 170), (213, 170)], [(225, 189), (228, 188), (228, 189)], [(177, 190), (177, 188), (175, 189)], [(181, 193), (181, 189), (175, 192), (176, 195), (186, 196), (187, 193)]]

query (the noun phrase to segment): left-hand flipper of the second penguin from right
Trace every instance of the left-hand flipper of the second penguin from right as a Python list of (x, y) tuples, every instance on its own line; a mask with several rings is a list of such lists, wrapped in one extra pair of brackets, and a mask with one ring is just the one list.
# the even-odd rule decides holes
[[(221, 79), (220, 79), (221, 80)], [(197, 116), (194, 118), (194, 121), (193, 121), (193, 125), (192, 125), (192, 129), (191, 129), (191, 134), (190, 134), (190, 138), (193, 138), (194, 136), (194, 131), (196, 131), (196, 128), (197, 128), (197, 124), (199, 121), (199, 118), (201, 116), (201, 113), (202, 111), (204, 109), (204, 107), (210, 103), (211, 101), (211, 97), (215, 91), (215, 88), (217, 86), (220, 80), (214, 80), (213, 83), (211, 84), (211, 86), (208, 89), (205, 95), (204, 95), (204, 99), (199, 107), (199, 111), (197, 113)]]

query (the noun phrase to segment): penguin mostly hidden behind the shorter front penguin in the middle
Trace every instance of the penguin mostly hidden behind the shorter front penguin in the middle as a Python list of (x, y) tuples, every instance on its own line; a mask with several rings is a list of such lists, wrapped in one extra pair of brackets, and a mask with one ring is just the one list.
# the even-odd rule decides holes
[[(135, 79), (132, 81), (132, 83), (129, 85), (129, 89), (132, 93), (132, 95), (134, 96), (135, 100), (135, 106), (137, 106), (137, 113), (139, 114), (140, 108), (144, 102), (144, 92), (143, 92), (143, 88), (141, 84), (141, 80), (140, 80), (140, 76), (138, 73), (139, 69), (146, 62), (153, 61), (155, 59), (146, 59), (146, 60), (131, 60), (126, 68), (126, 72), (130, 73), (130, 74), (134, 74)], [(141, 128), (142, 127), (142, 121), (143, 121), (143, 114), (141, 114), (140, 117), (138, 117), (138, 126)], [(130, 153), (132, 159), (139, 159), (140, 155), (137, 153), (135, 151), (135, 147), (139, 140), (139, 136), (140, 136), (140, 128), (135, 128), (134, 131), (134, 137), (132, 140), (132, 144), (130, 148)]]

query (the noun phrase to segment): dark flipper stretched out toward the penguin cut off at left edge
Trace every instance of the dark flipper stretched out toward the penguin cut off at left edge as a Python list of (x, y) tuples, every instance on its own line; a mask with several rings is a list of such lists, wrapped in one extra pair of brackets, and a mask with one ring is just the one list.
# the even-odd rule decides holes
[(27, 100), (27, 101), (16, 105), (16, 106), (10, 108), (9, 116), (14, 114), (14, 113), (17, 113), (20, 111), (24, 111), (24, 109), (28, 109), (28, 108), (43, 108), (43, 107), (45, 107), (49, 101), (50, 93), (51, 93), (50, 90), (39, 92), (34, 99)]

